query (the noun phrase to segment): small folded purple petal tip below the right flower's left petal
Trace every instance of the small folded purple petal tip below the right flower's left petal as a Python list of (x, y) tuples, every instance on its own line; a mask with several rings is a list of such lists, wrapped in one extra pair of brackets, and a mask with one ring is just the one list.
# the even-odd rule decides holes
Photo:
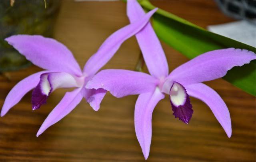
[(100, 109), (100, 103), (107, 91), (105, 89), (86, 89), (85, 86), (81, 90), (82, 96), (86, 99), (86, 101), (90, 104), (92, 109), (98, 111)]

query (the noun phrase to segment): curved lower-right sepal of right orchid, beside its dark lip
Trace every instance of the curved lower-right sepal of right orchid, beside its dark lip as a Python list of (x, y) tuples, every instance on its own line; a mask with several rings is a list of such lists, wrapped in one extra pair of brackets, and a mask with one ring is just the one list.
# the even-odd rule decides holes
[(230, 114), (220, 95), (203, 83), (186, 85), (185, 87), (188, 95), (200, 99), (210, 107), (212, 113), (230, 138), (232, 134)]

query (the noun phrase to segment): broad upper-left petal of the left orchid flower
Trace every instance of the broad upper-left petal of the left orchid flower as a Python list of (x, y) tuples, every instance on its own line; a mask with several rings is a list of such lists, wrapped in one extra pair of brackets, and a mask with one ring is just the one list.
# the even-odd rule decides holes
[(15, 35), (5, 39), (35, 65), (56, 72), (82, 75), (70, 50), (62, 43), (43, 36)]

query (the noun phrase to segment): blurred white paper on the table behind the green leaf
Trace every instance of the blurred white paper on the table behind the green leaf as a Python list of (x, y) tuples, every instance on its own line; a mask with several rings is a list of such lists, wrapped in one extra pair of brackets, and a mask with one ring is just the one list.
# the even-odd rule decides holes
[(210, 25), (209, 31), (256, 47), (256, 24), (245, 20), (226, 24)]

